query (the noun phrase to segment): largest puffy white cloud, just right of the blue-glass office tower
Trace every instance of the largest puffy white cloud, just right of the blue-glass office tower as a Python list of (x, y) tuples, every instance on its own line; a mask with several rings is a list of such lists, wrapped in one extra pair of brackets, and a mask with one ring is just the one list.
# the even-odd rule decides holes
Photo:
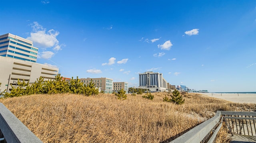
[(59, 41), (56, 38), (60, 34), (58, 31), (50, 29), (46, 32), (46, 29), (38, 22), (34, 22), (31, 27), (33, 30), (27, 39), (33, 41), (34, 46), (40, 48), (53, 47), (56, 51), (61, 49), (61, 45), (59, 45)]

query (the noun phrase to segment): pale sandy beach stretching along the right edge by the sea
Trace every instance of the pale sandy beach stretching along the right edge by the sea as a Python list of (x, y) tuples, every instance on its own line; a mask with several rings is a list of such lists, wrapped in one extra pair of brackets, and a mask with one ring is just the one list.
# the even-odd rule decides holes
[(198, 93), (209, 97), (220, 98), (236, 103), (255, 103), (256, 94), (237, 94), (237, 93)]

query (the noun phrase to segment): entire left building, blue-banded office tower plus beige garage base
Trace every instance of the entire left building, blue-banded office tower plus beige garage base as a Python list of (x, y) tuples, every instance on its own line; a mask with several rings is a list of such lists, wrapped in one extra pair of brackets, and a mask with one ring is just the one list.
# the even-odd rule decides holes
[(11, 90), (19, 80), (34, 83), (37, 78), (55, 79), (59, 69), (36, 63), (38, 48), (17, 35), (0, 35), (0, 91)]

